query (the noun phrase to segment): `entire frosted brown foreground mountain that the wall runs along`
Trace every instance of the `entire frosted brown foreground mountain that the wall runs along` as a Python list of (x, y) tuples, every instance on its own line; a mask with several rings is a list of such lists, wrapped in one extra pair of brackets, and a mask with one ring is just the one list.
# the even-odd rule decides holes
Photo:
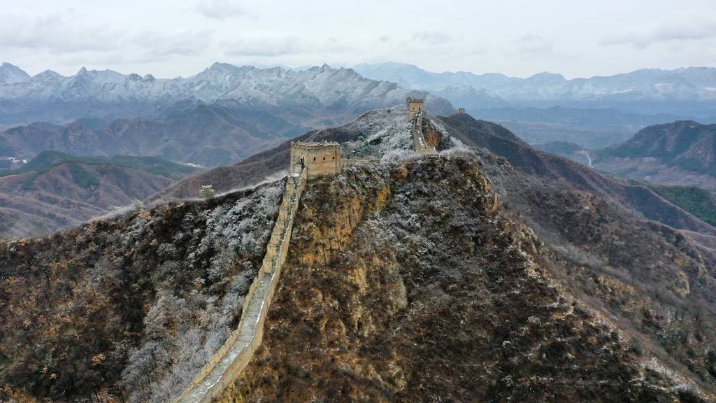
[[(225, 401), (716, 401), (713, 227), (469, 115), (423, 132), (439, 155), (412, 153), (405, 108), (303, 137), (382, 163), (307, 184)], [(288, 150), (156, 201), (280, 176)], [(0, 242), (4, 397), (179, 394), (236, 324), (281, 185)]]

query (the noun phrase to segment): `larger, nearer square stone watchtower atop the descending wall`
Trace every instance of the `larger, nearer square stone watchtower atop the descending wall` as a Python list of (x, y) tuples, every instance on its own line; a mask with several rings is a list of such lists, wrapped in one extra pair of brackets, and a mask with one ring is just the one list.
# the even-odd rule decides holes
[(316, 176), (340, 174), (342, 169), (341, 145), (323, 141), (291, 143), (291, 170), (306, 166), (306, 179)]

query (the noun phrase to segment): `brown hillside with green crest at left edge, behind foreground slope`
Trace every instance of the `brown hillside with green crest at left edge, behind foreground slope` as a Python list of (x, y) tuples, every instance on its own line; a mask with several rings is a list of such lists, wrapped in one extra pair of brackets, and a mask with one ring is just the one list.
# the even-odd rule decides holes
[(78, 157), (44, 151), (22, 169), (0, 171), (0, 236), (74, 226), (131, 204), (197, 169), (153, 157)]

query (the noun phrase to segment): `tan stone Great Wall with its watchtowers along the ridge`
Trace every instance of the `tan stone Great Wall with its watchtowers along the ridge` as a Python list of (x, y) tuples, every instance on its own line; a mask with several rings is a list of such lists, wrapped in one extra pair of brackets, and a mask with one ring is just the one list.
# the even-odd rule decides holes
[[(415, 152), (435, 153), (435, 147), (425, 143), (422, 133), (425, 115), (423, 100), (407, 98), (407, 108)], [(243, 303), (241, 320), (221, 349), (211, 356), (174, 403), (213, 402), (241, 374), (261, 345), (263, 324), (288, 255), (294, 217), (306, 181), (319, 176), (337, 175), (342, 169), (352, 166), (378, 162), (379, 160), (375, 158), (342, 158), (339, 143), (291, 143), (289, 176), (286, 179), (286, 191), (279, 208), (279, 216), (276, 218), (271, 238), (266, 246), (261, 269), (258, 270), (258, 275), (253, 280)]]

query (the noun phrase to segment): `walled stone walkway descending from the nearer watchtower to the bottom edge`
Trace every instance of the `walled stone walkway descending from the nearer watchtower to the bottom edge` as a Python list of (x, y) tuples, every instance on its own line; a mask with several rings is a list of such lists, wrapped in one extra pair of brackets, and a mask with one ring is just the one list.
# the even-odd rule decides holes
[(281, 277), (281, 267), (291, 243), (291, 230), (301, 194), (306, 187), (306, 166), (291, 169), (279, 217), (271, 232), (263, 264), (248, 290), (241, 311), (241, 321), (226, 342), (214, 354), (190, 386), (175, 403), (210, 403), (246, 368), (263, 340), (263, 323)]

